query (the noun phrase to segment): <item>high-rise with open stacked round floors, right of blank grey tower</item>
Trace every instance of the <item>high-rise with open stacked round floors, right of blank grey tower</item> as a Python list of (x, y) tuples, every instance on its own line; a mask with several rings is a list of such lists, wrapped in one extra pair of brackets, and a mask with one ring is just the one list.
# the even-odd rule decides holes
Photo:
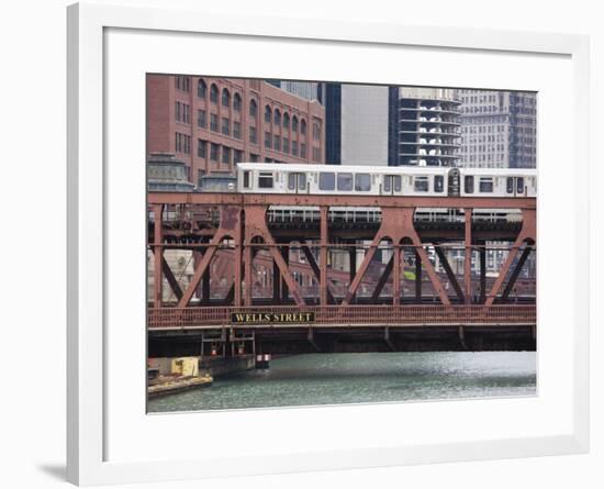
[(399, 165), (456, 166), (459, 104), (455, 90), (399, 88)]

